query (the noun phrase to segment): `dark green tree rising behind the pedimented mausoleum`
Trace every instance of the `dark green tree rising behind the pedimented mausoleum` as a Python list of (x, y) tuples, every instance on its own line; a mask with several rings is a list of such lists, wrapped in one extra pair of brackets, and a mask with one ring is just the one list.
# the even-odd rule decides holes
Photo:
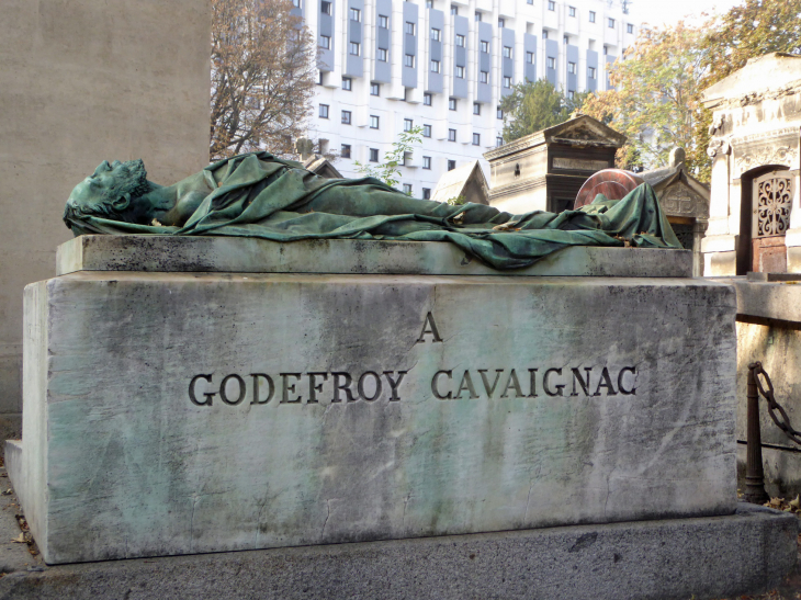
[(511, 93), (500, 101), (504, 141), (564, 123), (580, 109), (587, 95), (584, 92), (567, 98), (546, 79), (516, 84)]

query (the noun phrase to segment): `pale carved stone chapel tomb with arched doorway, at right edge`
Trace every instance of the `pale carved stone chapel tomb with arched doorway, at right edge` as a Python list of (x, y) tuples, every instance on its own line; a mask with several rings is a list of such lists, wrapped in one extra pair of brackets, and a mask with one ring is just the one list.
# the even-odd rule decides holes
[(706, 275), (801, 272), (801, 57), (768, 54), (703, 92), (713, 111)]

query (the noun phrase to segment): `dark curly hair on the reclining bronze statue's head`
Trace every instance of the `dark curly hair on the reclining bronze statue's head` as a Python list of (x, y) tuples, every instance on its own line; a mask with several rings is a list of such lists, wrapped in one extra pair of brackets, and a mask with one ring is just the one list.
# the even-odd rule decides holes
[[(150, 191), (147, 182), (147, 171), (142, 159), (120, 162), (115, 160), (111, 168), (116, 171), (114, 184), (100, 191), (100, 199), (93, 203), (76, 203), (67, 201), (64, 207), (64, 223), (71, 228), (76, 222), (84, 220), (87, 216), (136, 223), (136, 217), (127, 211), (131, 200), (145, 195)], [(98, 174), (98, 169), (94, 174)]]

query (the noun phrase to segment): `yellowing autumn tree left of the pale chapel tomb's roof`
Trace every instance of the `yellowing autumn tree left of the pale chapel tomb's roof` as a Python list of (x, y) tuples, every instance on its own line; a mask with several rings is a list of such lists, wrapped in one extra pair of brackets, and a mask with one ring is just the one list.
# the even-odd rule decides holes
[(703, 118), (700, 94), (707, 71), (701, 30), (641, 30), (633, 46), (611, 67), (614, 90), (590, 95), (582, 112), (609, 124), (629, 139), (618, 165), (635, 169), (667, 162), (673, 148), (687, 152), (687, 166), (700, 174), (707, 146), (696, 137)]

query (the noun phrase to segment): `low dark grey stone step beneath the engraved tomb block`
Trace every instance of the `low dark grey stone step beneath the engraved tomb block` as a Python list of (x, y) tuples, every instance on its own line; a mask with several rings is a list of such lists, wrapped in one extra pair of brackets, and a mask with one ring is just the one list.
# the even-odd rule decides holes
[(0, 599), (720, 599), (779, 585), (797, 534), (794, 516), (741, 505), (729, 517), (60, 565), (7, 575)]

